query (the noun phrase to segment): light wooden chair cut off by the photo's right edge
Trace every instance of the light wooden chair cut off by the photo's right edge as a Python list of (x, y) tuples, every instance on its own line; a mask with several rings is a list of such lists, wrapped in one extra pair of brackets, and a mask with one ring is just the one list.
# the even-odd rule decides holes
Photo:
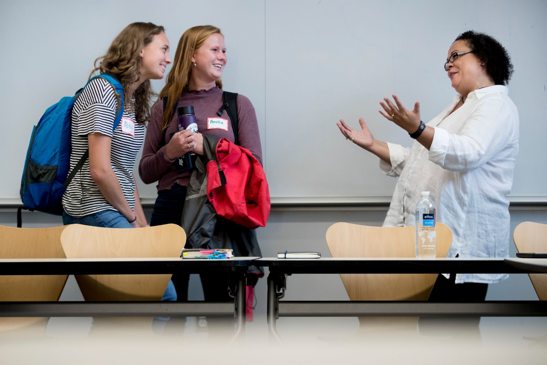
[[(547, 225), (522, 222), (513, 232), (513, 241), (519, 252), (547, 253)], [(547, 274), (528, 274), (540, 301), (547, 301)]]

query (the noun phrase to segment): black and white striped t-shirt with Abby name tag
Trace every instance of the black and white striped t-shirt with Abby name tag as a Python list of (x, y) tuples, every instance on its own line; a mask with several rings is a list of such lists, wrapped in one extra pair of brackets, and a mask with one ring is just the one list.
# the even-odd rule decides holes
[[(132, 172), (137, 152), (144, 140), (144, 126), (138, 125), (135, 114), (127, 113), (124, 108), (122, 119), (113, 132), (117, 107), (114, 89), (107, 80), (96, 78), (82, 91), (72, 109), (70, 170), (72, 171), (89, 148), (88, 134), (98, 132), (111, 137), (110, 163), (120, 182), (121, 191), (133, 209), (135, 181)], [(117, 210), (106, 201), (91, 178), (89, 158), (68, 185), (62, 203), (65, 211), (74, 217), (103, 210)]]

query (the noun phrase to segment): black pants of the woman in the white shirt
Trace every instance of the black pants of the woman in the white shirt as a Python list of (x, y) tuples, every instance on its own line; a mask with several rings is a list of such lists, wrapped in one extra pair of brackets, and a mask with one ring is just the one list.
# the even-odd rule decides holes
[[(429, 302), (474, 302), (484, 301), (488, 284), (464, 282), (456, 284), (456, 274), (450, 274), (450, 279), (439, 274)], [(451, 335), (463, 338), (465, 341), (480, 344), (480, 317), (421, 317), (418, 321), (420, 333), (430, 336)]]

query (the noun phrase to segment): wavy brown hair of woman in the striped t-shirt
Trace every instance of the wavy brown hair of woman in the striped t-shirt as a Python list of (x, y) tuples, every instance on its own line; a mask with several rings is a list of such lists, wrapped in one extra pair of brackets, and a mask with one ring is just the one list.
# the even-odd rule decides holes
[[(153, 23), (131, 23), (114, 38), (106, 54), (95, 60), (95, 68), (89, 78), (96, 73), (109, 73), (120, 81), (124, 90), (129, 90), (129, 86), (138, 81), (140, 75), (139, 52), (160, 33), (165, 33), (162, 26)], [(125, 106), (128, 110), (135, 111), (138, 124), (144, 125), (150, 119), (150, 105), (155, 96), (157, 94), (152, 90), (150, 80), (141, 83), (133, 93), (135, 105), (131, 102), (131, 95), (125, 95)]]

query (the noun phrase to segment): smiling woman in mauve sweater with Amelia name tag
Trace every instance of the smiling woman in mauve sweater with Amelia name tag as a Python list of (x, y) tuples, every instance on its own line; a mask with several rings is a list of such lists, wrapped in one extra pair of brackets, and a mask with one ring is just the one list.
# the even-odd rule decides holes
[[(226, 66), (224, 36), (213, 26), (192, 27), (182, 35), (166, 85), (160, 92), (144, 139), (139, 175), (146, 184), (158, 181), (158, 198), (150, 225), (181, 225), (191, 170), (177, 172), (178, 157), (187, 152), (203, 154), (203, 136), (210, 134), (235, 141), (228, 112), (222, 107), (222, 72)], [(165, 97), (167, 102), (164, 107)], [(199, 133), (178, 131), (176, 108), (193, 105)], [(165, 109), (165, 112), (164, 112)], [(238, 144), (262, 162), (257, 116), (248, 98), (237, 96)], [(226, 282), (218, 275), (201, 274), (206, 301), (231, 300)], [(174, 274), (178, 301), (188, 299), (188, 274)]]

